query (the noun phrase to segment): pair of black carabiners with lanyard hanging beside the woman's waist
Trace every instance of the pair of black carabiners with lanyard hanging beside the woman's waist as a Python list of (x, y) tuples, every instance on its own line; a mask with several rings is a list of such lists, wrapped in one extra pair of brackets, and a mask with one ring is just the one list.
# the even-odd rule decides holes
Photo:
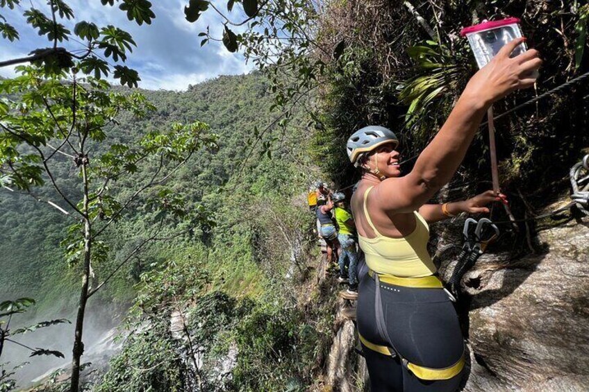
[[(474, 232), (470, 230), (476, 225)], [(488, 230), (491, 229), (492, 231)], [(485, 232), (491, 232), (490, 237), (485, 236)], [(458, 255), (458, 262), (454, 266), (452, 276), (446, 285), (451, 293), (458, 297), (460, 293), (460, 282), (464, 274), (474, 266), (476, 260), (485, 253), (486, 248), (492, 241), (499, 237), (499, 228), (490, 219), (482, 218), (478, 222), (469, 218), (464, 223), (463, 238), (464, 244), (461, 253)]]

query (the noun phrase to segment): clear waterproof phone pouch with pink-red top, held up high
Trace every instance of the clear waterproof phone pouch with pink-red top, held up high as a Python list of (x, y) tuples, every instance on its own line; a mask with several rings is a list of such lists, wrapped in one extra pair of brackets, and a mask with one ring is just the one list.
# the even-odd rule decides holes
[[(461, 35), (468, 38), (468, 43), (476, 58), (476, 64), (483, 68), (501, 50), (501, 48), (515, 38), (522, 37), (520, 19), (515, 17), (483, 22), (474, 26), (465, 27)], [(522, 42), (511, 53), (515, 57), (527, 50), (526, 44)]]

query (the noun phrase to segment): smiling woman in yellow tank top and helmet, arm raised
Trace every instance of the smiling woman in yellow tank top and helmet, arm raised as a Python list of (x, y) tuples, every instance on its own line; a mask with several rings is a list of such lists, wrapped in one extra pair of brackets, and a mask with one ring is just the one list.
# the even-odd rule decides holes
[(461, 382), (463, 337), (427, 253), (427, 223), (488, 212), (485, 205), (505, 196), (487, 191), (458, 203), (425, 203), (454, 175), (488, 107), (536, 81), (537, 51), (509, 57), (524, 40), (506, 44), (471, 78), (406, 176), (390, 130), (366, 127), (348, 140), (350, 160), (363, 170), (351, 206), (370, 269), (360, 279), (357, 322), (373, 392), (456, 391)]

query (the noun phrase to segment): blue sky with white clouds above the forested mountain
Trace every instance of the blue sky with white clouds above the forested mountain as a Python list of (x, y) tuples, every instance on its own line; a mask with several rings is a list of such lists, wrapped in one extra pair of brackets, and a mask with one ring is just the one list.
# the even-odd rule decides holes
[[(133, 35), (137, 47), (128, 56), (128, 67), (139, 71), (142, 81), (140, 87), (149, 90), (185, 90), (189, 84), (195, 85), (203, 80), (219, 75), (246, 74), (253, 69), (246, 64), (239, 53), (229, 53), (221, 42), (209, 42), (200, 47), (201, 37), (207, 25), (213, 35), (221, 37), (222, 19), (212, 9), (204, 12), (199, 20), (191, 24), (185, 19), (184, 6), (188, 0), (151, 0), (152, 10), (156, 13), (151, 25), (138, 26), (129, 22), (126, 13), (116, 6), (102, 6), (99, 0), (66, 0), (74, 10), (74, 21), (64, 19), (70, 31), (74, 24), (85, 20), (97, 26), (113, 24)], [(0, 8), (0, 14), (6, 17), (9, 24), (17, 28), (20, 40), (10, 42), (0, 36), (0, 60), (8, 60), (26, 56), (35, 48), (51, 46), (46, 36), (39, 36), (31, 26), (26, 25), (22, 12), (31, 8), (42, 10), (50, 17), (47, 1), (24, 0), (20, 8), (8, 10)], [(219, 9), (226, 10), (226, 1), (215, 0)], [(240, 20), (240, 6), (233, 8), (232, 16)], [(75, 37), (75, 36), (74, 36)], [(80, 49), (76, 42), (65, 43), (69, 49)], [(13, 76), (14, 67), (0, 68), (0, 76)]]

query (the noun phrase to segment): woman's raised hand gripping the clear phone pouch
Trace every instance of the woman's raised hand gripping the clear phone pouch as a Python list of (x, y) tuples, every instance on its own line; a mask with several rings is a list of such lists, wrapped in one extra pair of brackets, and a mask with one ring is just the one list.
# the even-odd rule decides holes
[(515, 90), (532, 87), (538, 75), (534, 71), (542, 65), (538, 51), (529, 49), (519, 56), (509, 57), (517, 45), (525, 40), (521, 37), (505, 44), (485, 67), (472, 76), (465, 93), (472, 99), (490, 105)]

